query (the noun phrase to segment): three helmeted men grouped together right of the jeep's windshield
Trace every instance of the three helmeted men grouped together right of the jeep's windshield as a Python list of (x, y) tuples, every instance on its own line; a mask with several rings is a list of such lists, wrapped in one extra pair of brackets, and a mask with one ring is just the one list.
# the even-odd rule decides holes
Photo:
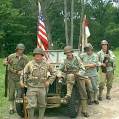
[(64, 102), (71, 98), (72, 88), (76, 82), (79, 88), (82, 114), (88, 117), (88, 104), (99, 104), (103, 100), (103, 89), (106, 84), (106, 99), (111, 100), (110, 91), (114, 78), (115, 55), (109, 50), (109, 43), (101, 41), (101, 50), (94, 53), (93, 46), (88, 43), (84, 53), (74, 56), (71, 46), (64, 48), (66, 59), (60, 70), (67, 79), (67, 94)]

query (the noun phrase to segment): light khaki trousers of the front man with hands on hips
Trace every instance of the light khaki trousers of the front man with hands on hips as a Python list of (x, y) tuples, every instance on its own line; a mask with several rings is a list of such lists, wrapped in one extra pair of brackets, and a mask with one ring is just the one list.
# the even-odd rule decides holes
[(27, 109), (29, 111), (29, 119), (35, 119), (35, 109), (39, 110), (39, 115), (37, 119), (43, 119), (45, 108), (46, 108), (46, 89), (41, 88), (28, 88), (27, 91), (28, 105)]

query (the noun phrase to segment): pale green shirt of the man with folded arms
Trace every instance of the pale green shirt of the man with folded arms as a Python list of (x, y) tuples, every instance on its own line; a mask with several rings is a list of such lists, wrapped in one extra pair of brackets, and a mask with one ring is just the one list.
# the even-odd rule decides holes
[[(87, 55), (87, 53), (83, 53), (80, 55), (80, 58), (83, 62), (83, 64), (95, 64), (98, 66), (98, 56), (93, 53), (92, 55)], [(91, 76), (97, 76), (97, 67), (94, 68), (87, 68), (86, 69), (86, 75)]]

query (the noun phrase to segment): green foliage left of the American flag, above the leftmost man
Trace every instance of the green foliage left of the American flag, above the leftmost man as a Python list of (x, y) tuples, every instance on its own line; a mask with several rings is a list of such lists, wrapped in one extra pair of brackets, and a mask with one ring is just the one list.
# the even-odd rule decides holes
[(0, 4), (0, 55), (13, 52), (21, 42), (26, 45), (27, 52), (32, 51), (36, 46), (37, 17), (27, 14), (23, 1), (1, 0)]

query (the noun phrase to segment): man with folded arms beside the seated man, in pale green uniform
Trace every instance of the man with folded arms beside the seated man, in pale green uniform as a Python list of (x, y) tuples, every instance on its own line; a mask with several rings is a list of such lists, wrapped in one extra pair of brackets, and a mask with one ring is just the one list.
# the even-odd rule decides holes
[(89, 77), (92, 88), (93, 88), (93, 95), (91, 95), (91, 104), (99, 104), (98, 102), (98, 73), (97, 73), (97, 66), (98, 66), (98, 57), (93, 52), (93, 46), (88, 43), (85, 46), (85, 53), (81, 55), (81, 60), (86, 68), (86, 76)]

